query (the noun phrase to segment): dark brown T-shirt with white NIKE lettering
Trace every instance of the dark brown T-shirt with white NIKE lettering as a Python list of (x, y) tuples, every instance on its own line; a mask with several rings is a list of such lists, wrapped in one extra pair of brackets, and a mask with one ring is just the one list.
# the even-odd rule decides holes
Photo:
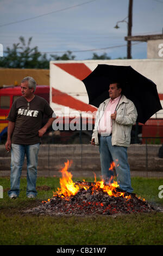
[(18, 97), (10, 109), (8, 120), (15, 122), (11, 143), (32, 145), (40, 143), (38, 131), (42, 127), (43, 116), (51, 118), (53, 110), (40, 96), (28, 102), (23, 96)]

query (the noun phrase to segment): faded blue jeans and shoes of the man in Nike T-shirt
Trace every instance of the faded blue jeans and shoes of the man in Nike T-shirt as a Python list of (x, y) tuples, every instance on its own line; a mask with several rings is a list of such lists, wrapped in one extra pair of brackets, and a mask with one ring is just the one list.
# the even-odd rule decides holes
[(34, 145), (11, 144), (11, 188), (8, 192), (16, 196), (20, 193), (20, 178), (24, 157), (27, 157), (27, 196), (33, 194), (36, 196), (36, 179), (37, 179), (37, 155), (39, 153), (40, 143)]

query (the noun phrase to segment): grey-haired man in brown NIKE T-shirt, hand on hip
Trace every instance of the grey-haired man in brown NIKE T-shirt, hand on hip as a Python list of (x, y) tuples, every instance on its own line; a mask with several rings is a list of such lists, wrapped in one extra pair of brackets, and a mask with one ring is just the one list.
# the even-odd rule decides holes
[[(25, 77), (21, 83), (22, 96), (14, 101), (8, 115), (8, 138), (5, 148), (11, 149), (11, 188), (10, 198), (20, 193), (20, 176), (27, 156), (27, 197), (36, 196), (37, 155), (40, 137), (52, 125), (55, 114), (48, 102), (34, 94), (36, 82), (32, 77)], [(43, 115), (48, 117), (42, 127)]]

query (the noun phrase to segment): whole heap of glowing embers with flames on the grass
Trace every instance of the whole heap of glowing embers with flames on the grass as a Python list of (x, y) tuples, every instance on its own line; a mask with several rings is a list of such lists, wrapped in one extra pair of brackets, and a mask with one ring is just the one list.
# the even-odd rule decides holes
[(68, 172), (70, 162), (60, 171), (60, 188), (51, 199), (35, 208), (35, 213), (51, 215), (114, 215), (137, 212), (151, 212), (153, 206), (135, 194), (121, 191), (117, 182), (105, 185), (103, 181), (72, 181)]

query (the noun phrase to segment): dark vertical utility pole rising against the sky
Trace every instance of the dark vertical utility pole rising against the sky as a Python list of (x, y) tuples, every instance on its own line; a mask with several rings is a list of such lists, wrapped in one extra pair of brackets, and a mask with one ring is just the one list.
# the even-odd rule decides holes
[[(129, 0), (128, 7), (128, 36), (131, 36), (133, 26), (133, 0)], [(127, 41), (127, 58), (131, 59), (131, 41)]]

